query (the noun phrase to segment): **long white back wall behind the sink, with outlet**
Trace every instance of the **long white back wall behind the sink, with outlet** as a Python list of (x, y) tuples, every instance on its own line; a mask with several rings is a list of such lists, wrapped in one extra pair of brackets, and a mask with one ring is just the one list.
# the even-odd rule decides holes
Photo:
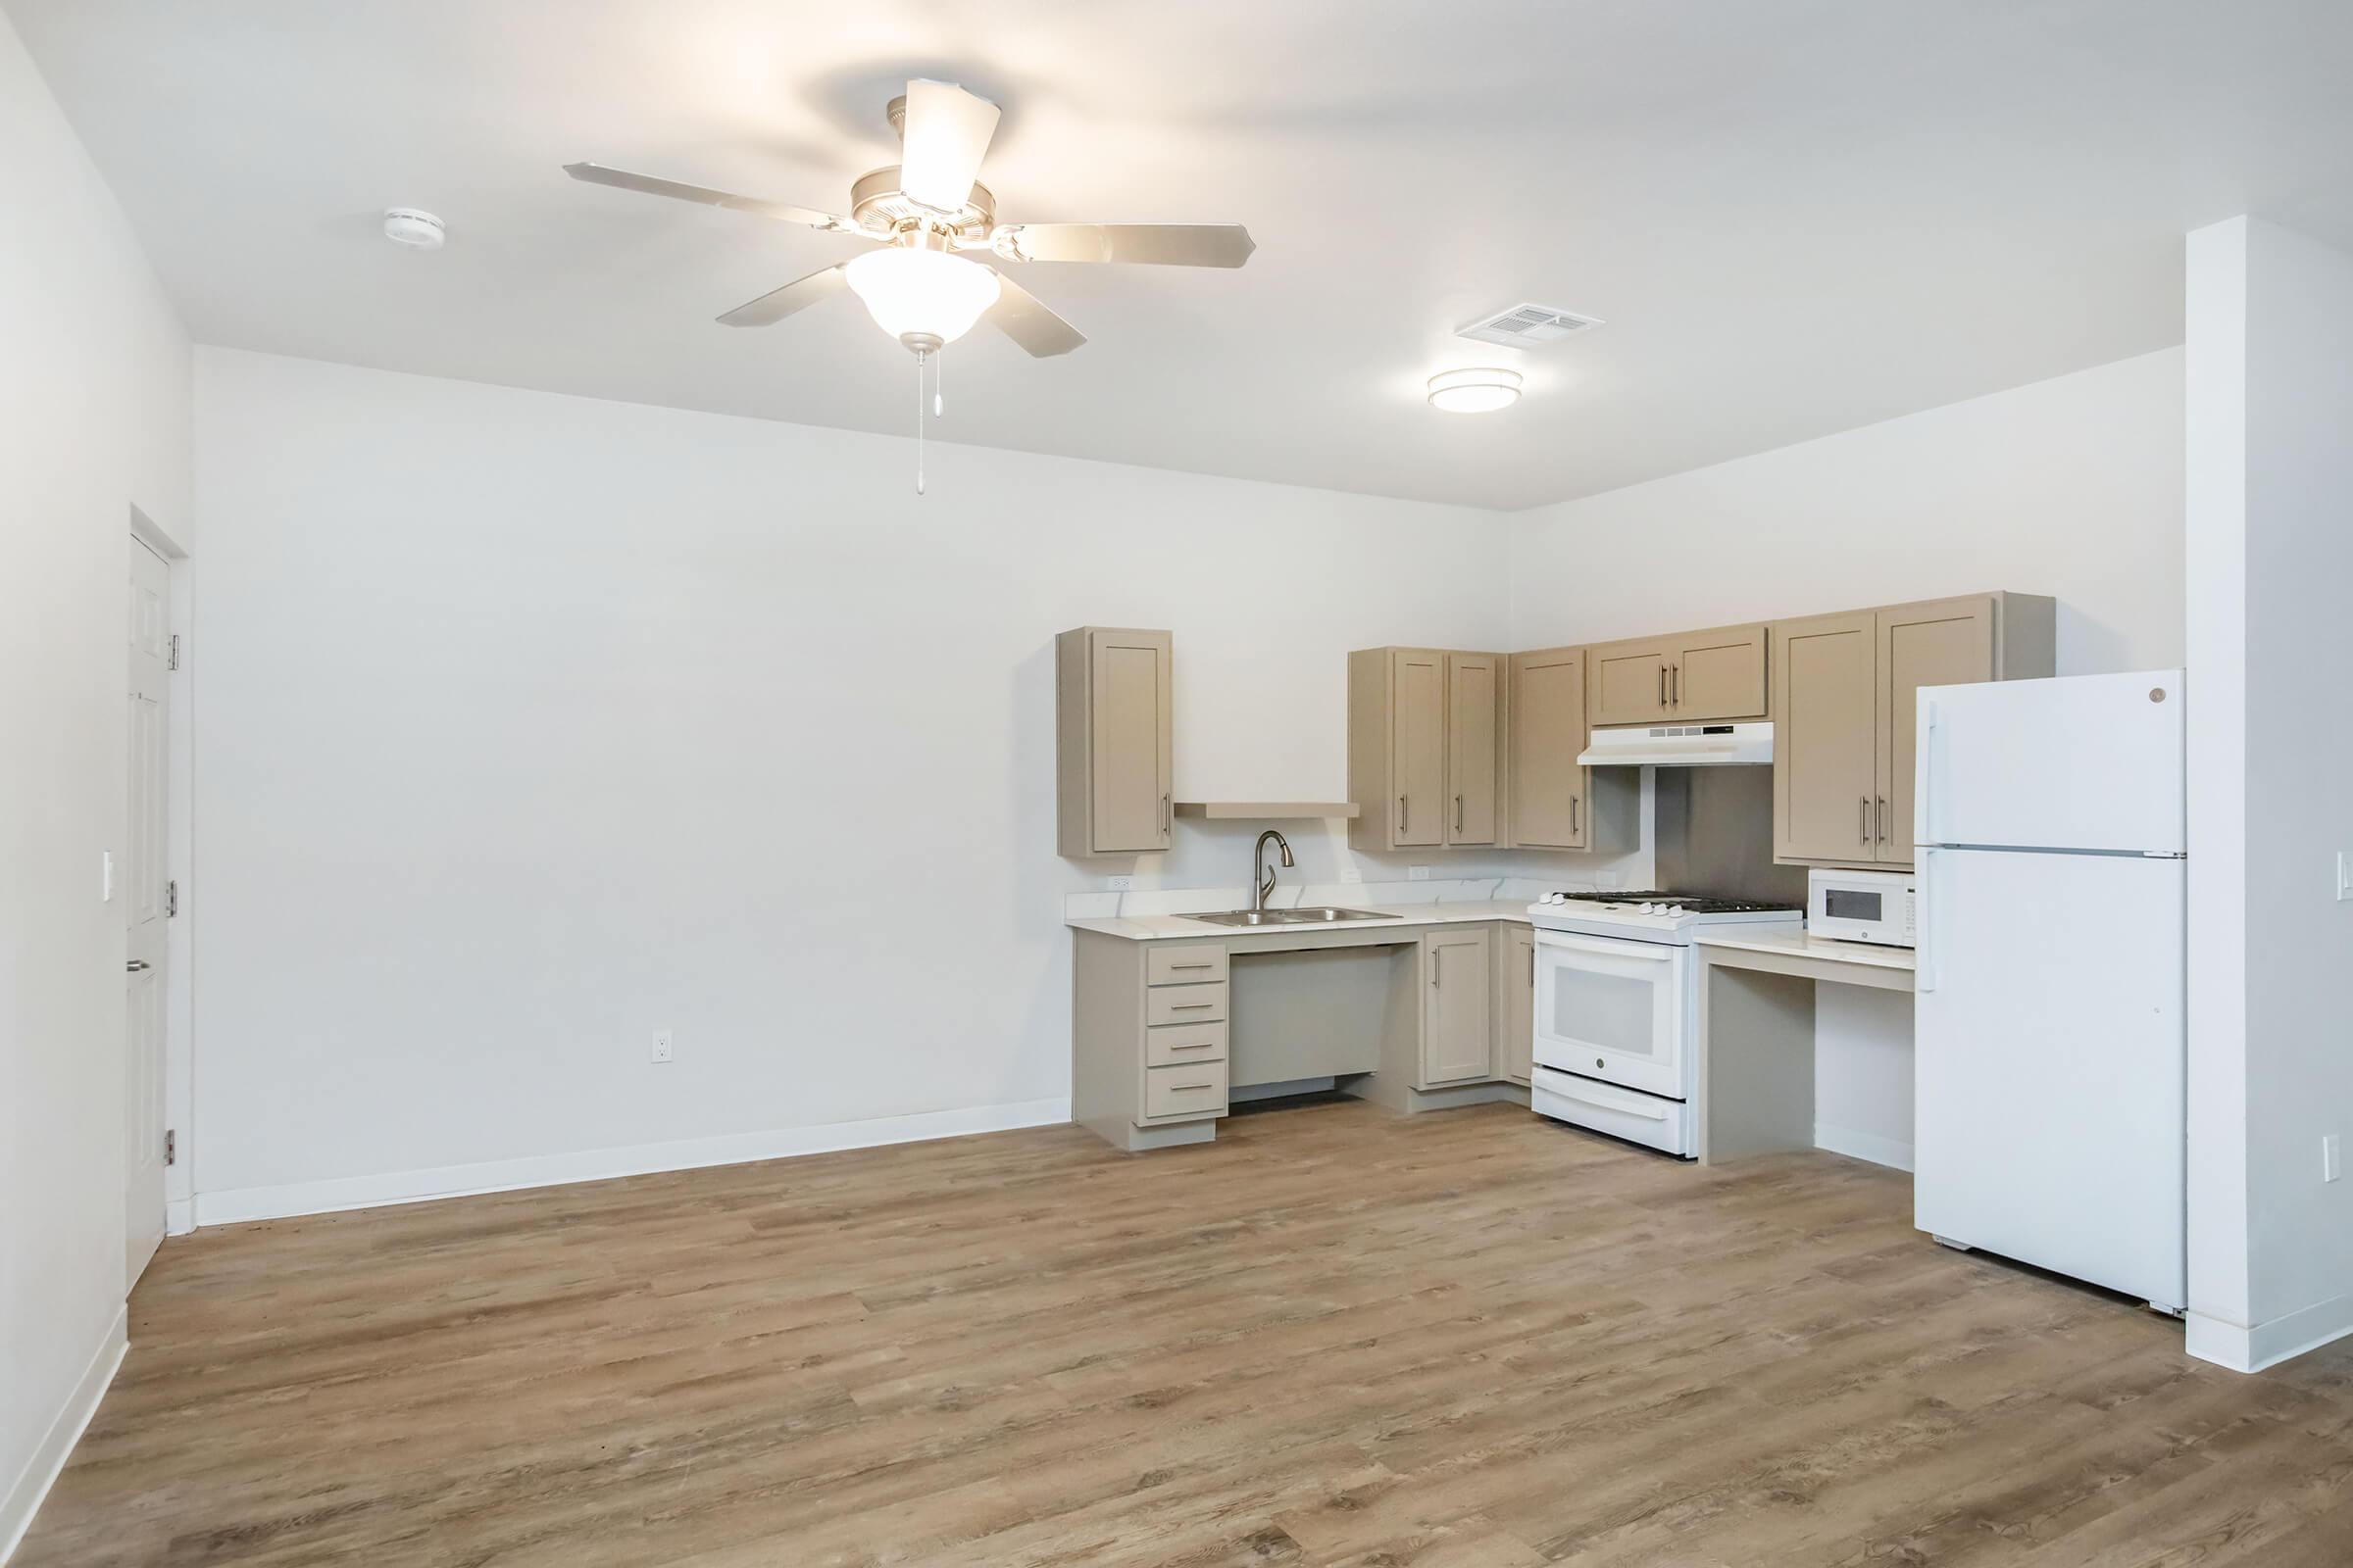
[(1174, 630), (1179, 797), (1337, 799), (1346, 649), (1506, 630), (1489, 512), (911, 482), (894, 437), (200, 350), (200, 1218), (1059, 1117), (1061, 896), (1139, 865), (1054, 853), (1054, 632)]

